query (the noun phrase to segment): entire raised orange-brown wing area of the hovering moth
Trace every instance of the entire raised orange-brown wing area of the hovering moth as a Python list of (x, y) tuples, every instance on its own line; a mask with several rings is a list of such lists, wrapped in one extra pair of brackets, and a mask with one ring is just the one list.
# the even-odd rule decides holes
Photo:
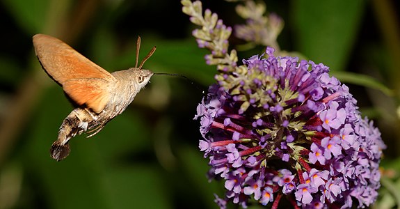
[(110, 86), (117, 82), (111, 73), (57, 38), (36, 34), (33, 46), (47, 74), (74, 102), (97, 113), (104, 109), (111, 96)]

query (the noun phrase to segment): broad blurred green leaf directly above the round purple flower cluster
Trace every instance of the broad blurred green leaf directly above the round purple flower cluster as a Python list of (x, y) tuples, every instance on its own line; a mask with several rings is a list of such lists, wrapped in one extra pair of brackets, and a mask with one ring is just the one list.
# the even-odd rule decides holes
[(342, 71), (360, 27), (366, 1), (292, 1), (296, 51)]

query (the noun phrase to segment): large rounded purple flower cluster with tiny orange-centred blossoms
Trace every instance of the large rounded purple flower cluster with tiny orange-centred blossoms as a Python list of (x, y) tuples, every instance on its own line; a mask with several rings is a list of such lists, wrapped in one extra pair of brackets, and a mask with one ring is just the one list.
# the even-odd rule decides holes
[(274, 56), (271, 47), (266, 54), (220, 70), (198, 105), (200, 150), (210, 178), (223, 179), (227, 190), (218, 206), (370, 206), (385, 148), (379, 130), (328, 67)]

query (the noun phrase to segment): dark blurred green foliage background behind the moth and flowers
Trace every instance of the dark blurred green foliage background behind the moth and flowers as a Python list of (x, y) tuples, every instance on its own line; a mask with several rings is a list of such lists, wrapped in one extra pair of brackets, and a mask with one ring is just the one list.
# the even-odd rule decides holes
[[(243, 21), (234, 13), (235, 2), (203, 4), (227, 25)], [(396, 206), (399, 2), (266, 1), (266, 6), (285, 21), (281, 49), (330, 66), (380, 127), (388, 148), (376, 208)], [(215, 68), (205, 65), (207, 52), (198, 49), (194, 26), (181, 9), (179, 1), (157, 0), (0, 1), (0, 209), (217, 208), (213, 193), (222, 194), (223, 185), (207, 182), (199, 123), (192, 120)], [(180, 73), (195, 84), (152, 77), (124, 114), (95, 137), (72, 139), (71, 155), (56, 162), (49, 146), (72, 106), (35, 59), (35, 33), (61, 38), (110, 71), (134, 65), (141, 36), (141, 58), (157, 46), (145, 68)], [(241, 44), (232, 40), (231, 47)], [(260, 52), (239, 52), (239, 60)]]

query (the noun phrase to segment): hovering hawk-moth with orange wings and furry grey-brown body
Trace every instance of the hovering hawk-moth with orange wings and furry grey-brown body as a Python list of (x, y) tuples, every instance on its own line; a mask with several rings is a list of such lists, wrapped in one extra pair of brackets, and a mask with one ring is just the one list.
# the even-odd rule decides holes
[(72, 137), (83, 132), (88, 137), (97, 134), (112, 118), (125, 111), (154, 75), (142, 67), (156, 47), (138, 65), (140, 36), (136, 43), (135, 67), (111, 73), (52, 36), (36, 34), (33, 46), (42, 68), (77, 105), (64, 119), (58, 138), (51, 145), (51, 157), (57, 161), (70, 154), (68, 142)]

